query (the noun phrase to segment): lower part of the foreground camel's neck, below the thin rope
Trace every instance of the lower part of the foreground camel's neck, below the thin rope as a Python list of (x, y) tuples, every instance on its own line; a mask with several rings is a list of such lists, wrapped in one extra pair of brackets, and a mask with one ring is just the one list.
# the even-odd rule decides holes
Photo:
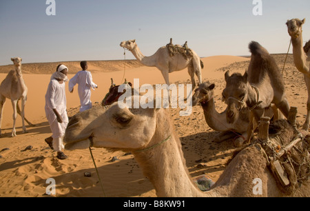
[(180, 143), (176, 139), (172, 135), (169, 141), (152, 150), (133, 152), (136, 161), (154, 185), (157, 197), (208, 197), (189, 176)]

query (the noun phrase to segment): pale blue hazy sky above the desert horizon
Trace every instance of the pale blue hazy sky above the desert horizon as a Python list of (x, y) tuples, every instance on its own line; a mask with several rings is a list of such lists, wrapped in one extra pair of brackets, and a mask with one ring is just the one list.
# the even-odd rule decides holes
[[(136, 39), (150, 56), (173, 39), (187, 41), (200, 57), (249, 55), (258, 41), (270, 53), (286, 53), (287, 19), (306, 18), (310, 39), (309, 0), (46, 0), (0, 1), (0, 66), (11, 57), (23, 63), (124, 59), (121, 41)], [(309, 21), (309, 22), (308, 22)], [(131, 53), (126, 59), (134, 59)]]

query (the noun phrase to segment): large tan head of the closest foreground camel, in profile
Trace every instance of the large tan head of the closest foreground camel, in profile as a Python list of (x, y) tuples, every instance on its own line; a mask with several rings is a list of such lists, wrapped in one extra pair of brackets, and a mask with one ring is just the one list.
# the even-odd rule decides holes
[(132, 151), (145, 147), (156, 130), (156, 109), (96, 106), (76, 114), (65, 131), (68, 150), (110, 148)]

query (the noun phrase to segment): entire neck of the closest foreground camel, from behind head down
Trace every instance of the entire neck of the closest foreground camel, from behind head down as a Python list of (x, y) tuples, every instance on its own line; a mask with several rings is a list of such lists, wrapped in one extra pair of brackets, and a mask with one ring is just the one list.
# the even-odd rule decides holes
[(143, 169), (143, 174), (154, 185), (158, 197), (205, 196), (189, 175), (180, 140), (173, 132), (167, 113), (161, 110), (156, 115), (156, 131), (145, 148), (163, 142), (170, 134), (171, 137), (155, 148), (132, 152)]

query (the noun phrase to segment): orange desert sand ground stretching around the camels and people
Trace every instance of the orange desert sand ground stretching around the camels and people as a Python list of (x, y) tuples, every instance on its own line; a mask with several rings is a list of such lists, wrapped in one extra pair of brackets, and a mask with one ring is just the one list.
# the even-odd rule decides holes
[[(278, 66), (282, 71), (285, 54), (275, 54)], [(216, 84), (216, 106), (223, 112), (226, 106), (221, 101), (221, 92), (225, 88), (225, 71), (245, 72), (249, 58), (234, 56), (215, 56), (202, 59), (205, 63), (203, 81)], [(79, 62), (61, 62), (69, 68), (68, 77), (79, 71)], [(58, 63), (25, 63), (22, 66), (23, 79), (28, 86), (28, 101), (25, 106), (25, 117), (36, 124), (27, 125), (28, 133), (23, 134), (21, 117), (17, 117), (17, 137), (11, 138), (12, 106), (6, 101), (3, 109), (2, 137), (0, 138), (0, 197), (103, 197), (103, 192), (96, 175), (89, 150), (67, 151), (68, 159), (59, 160), (56, 152), (48, 148), (44, 139), (50, 137), (51, 131), (45, 118), (45, 92), (50, 76)], [(0, 81), (13, 66), (0, 66)], [(110, 88), (111, 81), (120, 84), (124, 74), (124, 61), (89, 61), (89, 70), (93, 81), (99, 88), (92, 92), (92, 103), (102, 101)], [(283, 72), (287, 97), (290, 106), (298, 107), (298, 121), (304, 122), (307, 111), (307, 89), (303, 75), (293, 65), (290, 54)], [(164, 83), (161, 72), (156, 68), (141, 66), (137, 61), (126, 61), (125, 78), (127, 81), (140, 79), (145, 83)], [(187, 70), (169, 74), (171, 83), (189, 83)], [(68, 84), (67, 84), (68, 88)], [(79, 111), (79, 97), (67, 90), (67, 108), (69, 116)], [(169, 109), (176, 132), (183, 145), (187, 167), (192, 177), (207, 174), (216, 181), (225, 170), (227, 160), (236, 148), (233, 140), (215, 143), (219, 132), (211, 130), (203, 116), (200, 106), (193, 108), (192, 115), (180, 117), (180, 109)], [(32, 150), (23, 151), (28, 145)], [(94, 158), (103, 181), (106, 197), (156, 197), (155, 190), (134, 157), (124, 152), (108, 152), (105, 149), (94, 149)], [(113, 157), (118, 160), (112, 161)], [(91, 177), (84, 177), (90, 172)], [(46, 180), (56, 181), (56, 195), (45, 194)]]

